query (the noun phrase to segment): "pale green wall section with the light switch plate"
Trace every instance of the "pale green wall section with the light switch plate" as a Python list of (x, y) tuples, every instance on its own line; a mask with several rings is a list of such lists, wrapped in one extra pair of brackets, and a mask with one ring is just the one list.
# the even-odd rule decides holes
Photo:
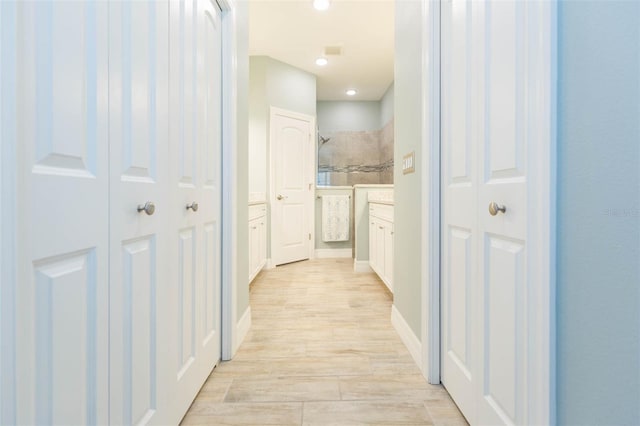
[[(420, 1), (395, 7), (394, 297), (393, 303), (421, 339), (422, 10)], [(402, 174), (402, 157), (415, 151), (415, 172)]]

